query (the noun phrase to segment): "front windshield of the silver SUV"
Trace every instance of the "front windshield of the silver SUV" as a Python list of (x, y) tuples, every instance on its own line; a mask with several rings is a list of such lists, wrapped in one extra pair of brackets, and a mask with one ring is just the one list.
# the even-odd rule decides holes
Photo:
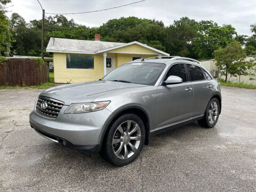
[(162, 63), (126, 63), (111, 71), (102, 80), (155, 85), (165, 64)]

